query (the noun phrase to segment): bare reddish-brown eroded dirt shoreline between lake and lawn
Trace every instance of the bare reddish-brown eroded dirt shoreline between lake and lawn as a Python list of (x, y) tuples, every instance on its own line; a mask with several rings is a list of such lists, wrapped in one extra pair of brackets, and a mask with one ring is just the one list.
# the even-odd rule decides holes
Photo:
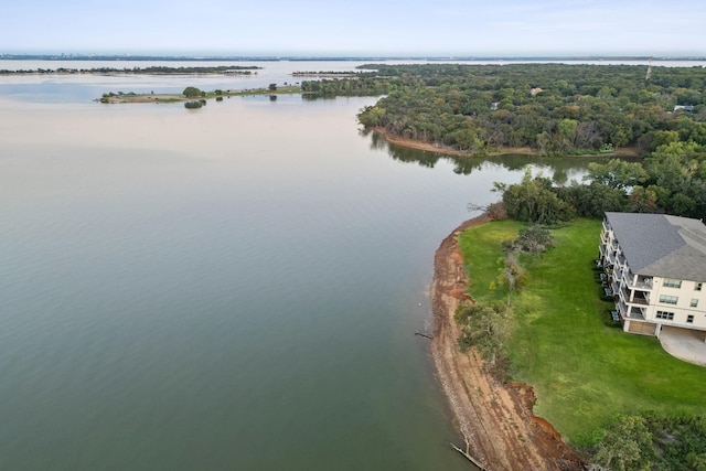
[(436, 253), (431, 353), (439, 381), (457, 426), (468, 440), (470, 454), (486, 469), (581, 470), (580, 460), (554, 427), (532, 414), (534, 392), (530, 386), (500, 384), (484, 373), (472, 351), (462, 354), (457, 346), (453, 312), (460, 300), (467, 299), (467, 275), (457, 237), (466, 228), (488, 221), (483, 215), (464, 222)]

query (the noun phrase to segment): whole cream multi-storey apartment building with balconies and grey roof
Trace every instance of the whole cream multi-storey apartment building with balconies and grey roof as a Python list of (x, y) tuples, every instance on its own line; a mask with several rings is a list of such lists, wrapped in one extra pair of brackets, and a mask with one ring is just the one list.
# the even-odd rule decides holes
[(625, 332), (706, 331), (706, 226), (664, 214), (606, 213), (600, 260)]

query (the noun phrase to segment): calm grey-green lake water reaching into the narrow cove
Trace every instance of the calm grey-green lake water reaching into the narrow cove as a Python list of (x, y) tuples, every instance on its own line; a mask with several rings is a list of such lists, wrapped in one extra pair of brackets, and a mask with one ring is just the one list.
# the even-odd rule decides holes
[(388, 149), (374, 98), (90, 101), (114, 85), (0, 77), (0, 469), (468, 469), (414, 333), (524, 158)]

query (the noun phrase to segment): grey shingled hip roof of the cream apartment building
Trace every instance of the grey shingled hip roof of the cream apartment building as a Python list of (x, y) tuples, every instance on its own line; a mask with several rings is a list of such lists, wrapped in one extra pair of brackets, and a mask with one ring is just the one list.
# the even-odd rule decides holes
[(664, 214), (606, 213), (630, 269), (638, 275), (706, 281), (706, 226)]

